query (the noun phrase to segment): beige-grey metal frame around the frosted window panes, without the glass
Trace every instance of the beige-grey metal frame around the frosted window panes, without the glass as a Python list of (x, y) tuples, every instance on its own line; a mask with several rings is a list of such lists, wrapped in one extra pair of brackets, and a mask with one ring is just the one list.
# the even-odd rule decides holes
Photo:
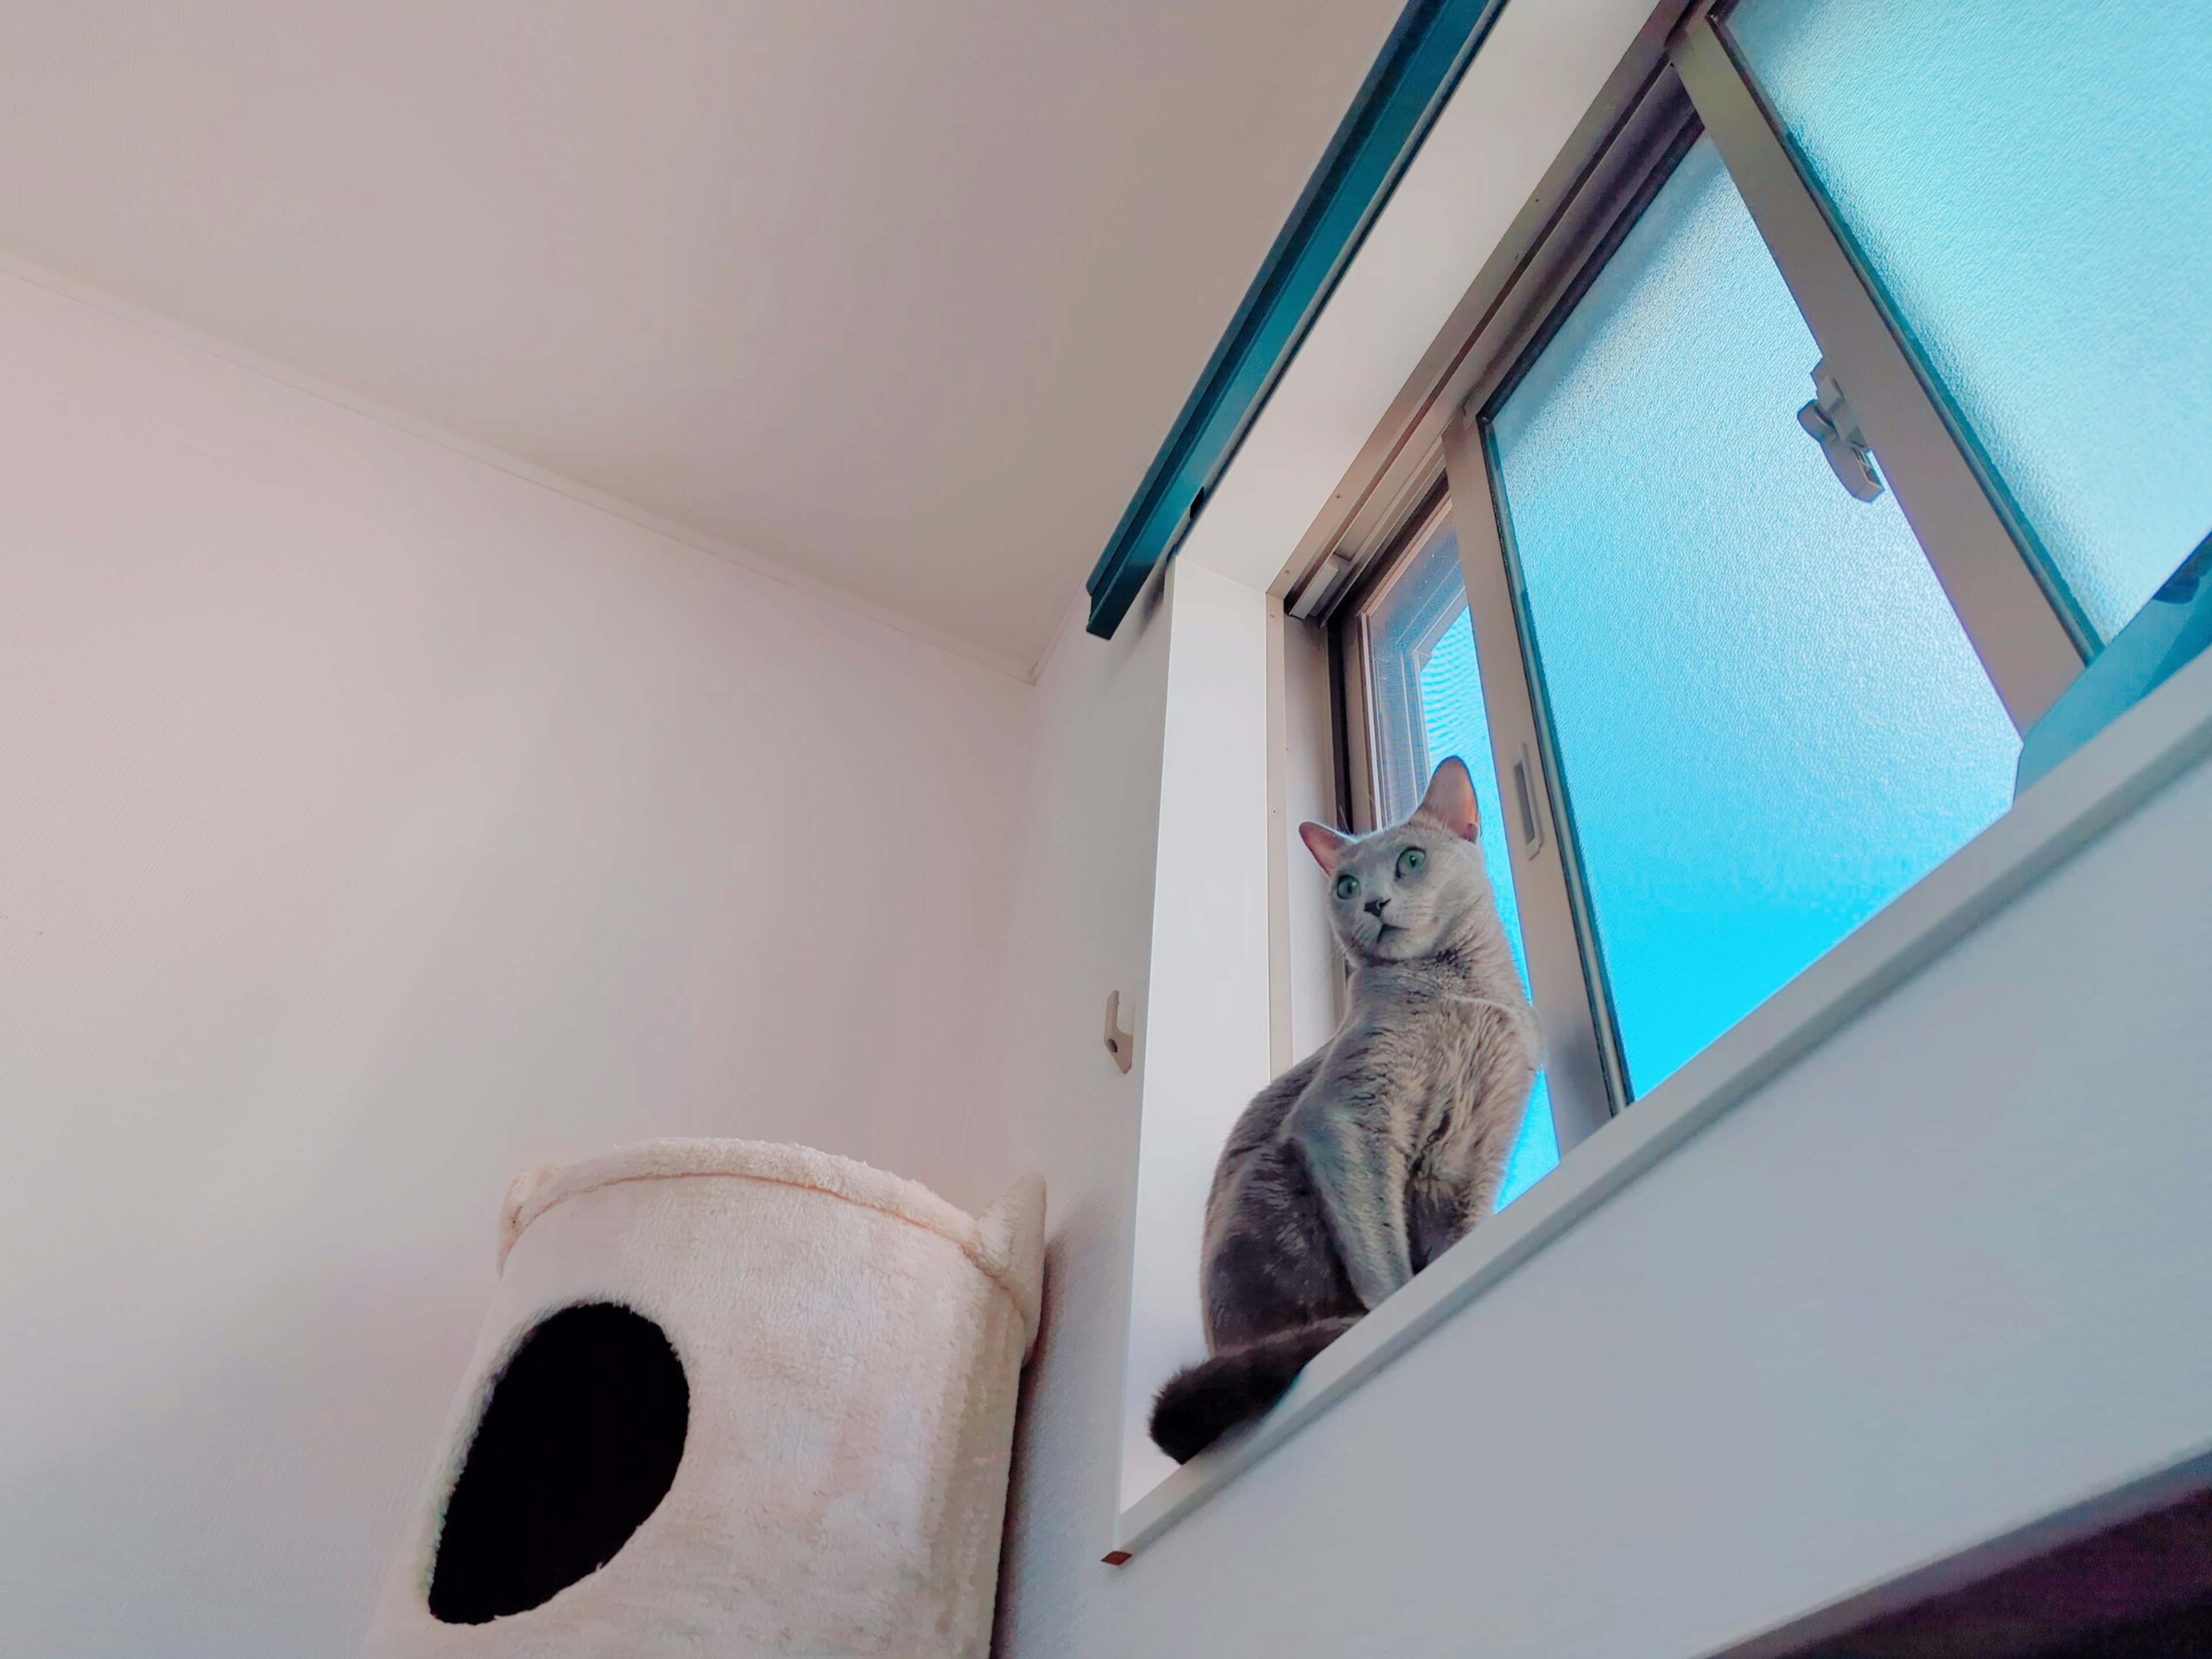
[(1449, 502), (1500, 796), (1511, 803), (1526, 787), (1537, 823), (1533, 838), (1520, 825), (1509, 823), (1509, 832), (1562, 1157), (1626, 1110), (1635, 1091), (1575, 825), (1557, 790), (1559, 752), (1544, 719), (1489, 420), (1699, 135), (1712, 137), (1823, 367), (1847, 389), (1882, 482), (2022, 734), (2093, 650), (2039, 546), (2008, 511), (1730, 49), (1725, 22), (1717, 22), (1728, 4), (1694, 0), (1652, 13), (1577, 128), (1577, 144), (1524, 210), (1520, 234), (1478, 274), (1425, 361), (1429, 396), (1398, 400), (1354, 469), (1369, 471), (1367, 489), (1338, 491), (1338, 500), (1354, 500), (1352, 511), (1316, 524), (1292, 566), (1301, 575), (1287, 584), (1287, 613), (1329, 628), (1338, 790), (1347, 827), (1367, 832), (1376, 827), (1383, 743), (1367, 617), (1418, 553), (1438, 495)]

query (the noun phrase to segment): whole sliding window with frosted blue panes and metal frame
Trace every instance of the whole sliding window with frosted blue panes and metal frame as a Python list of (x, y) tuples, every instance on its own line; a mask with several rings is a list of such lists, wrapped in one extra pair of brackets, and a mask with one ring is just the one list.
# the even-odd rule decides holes
[(1546, 1026), (1509, 1194), (2004, 814), (2022, 734), (2177, 591), (2199, 13), (1692, 7), (1462, 305), (1433, 487), (1292, 591), (1356, 827), (1475, 772)]

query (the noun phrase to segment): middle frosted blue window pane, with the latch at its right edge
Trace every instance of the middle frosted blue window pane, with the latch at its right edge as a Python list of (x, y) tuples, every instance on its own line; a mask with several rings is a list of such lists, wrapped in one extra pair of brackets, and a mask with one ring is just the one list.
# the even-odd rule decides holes
[(2011, 803), (1896, 500), (1796, 425), (1816, 358), (1699, 139), (1491, 425), (1635, 1093)]

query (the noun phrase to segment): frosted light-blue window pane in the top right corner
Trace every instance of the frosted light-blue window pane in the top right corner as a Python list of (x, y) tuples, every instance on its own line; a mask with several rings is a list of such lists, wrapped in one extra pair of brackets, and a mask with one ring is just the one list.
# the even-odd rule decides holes
[(1747, 0), (1728, 29), (2110, 639), (2212, 529), (2212, 7)]

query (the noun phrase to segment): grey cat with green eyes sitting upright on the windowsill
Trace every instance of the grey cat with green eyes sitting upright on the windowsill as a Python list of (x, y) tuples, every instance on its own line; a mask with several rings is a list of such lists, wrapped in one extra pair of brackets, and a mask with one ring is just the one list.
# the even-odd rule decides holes
[(1535, 1009), (1449, 759), (1413, 816), (1298, 827), (1352, 962), (1345, 1020), (1237, 1119), (1206, 1199), (1212, 1358), (1152, 1402), (1177, 1462), (1272, 1407), (1323, 1347), (1482, 1221), (1537, 1066)]

